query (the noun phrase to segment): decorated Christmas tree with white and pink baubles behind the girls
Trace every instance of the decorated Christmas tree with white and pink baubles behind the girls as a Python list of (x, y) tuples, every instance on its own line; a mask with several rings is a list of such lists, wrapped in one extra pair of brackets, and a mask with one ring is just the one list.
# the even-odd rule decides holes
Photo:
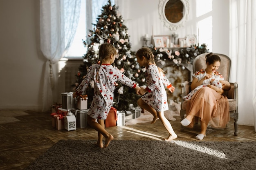
[[(77, 83), (76, 88), (82, 82), (87, 73), (88, 68), (98, 61), (99, 46), (103, 43), (110, 43), (115, 46), (118, 51), (119, 57), (113, 63), (117, 68), (127, 77), (132, 79), (139, 86), (145, 84), (145, 75), (143, 72), (145, 68), (140, 68), (136, 62), (137, 58), (135, 52), (131, 51), (131, 43), (129, 42), (128, 28), (124, 25), (124, 20), (118, 11), (118, 7), (111, 5), (110, 0), (102, 7), (102, 13), (98, 15), (96, 20), (97, 24), (93, 24), (94, 29), (90, 30), (88, 36), (90, 42), (83, 41), (84, 45), (88, 47), (87, 53), (83, 56), (84, 62), (79, 67), (76, 75)], [(88, 95), (88, 104), (90, 105), (93, 98), (94, 91), (93, 82), (85, 91)], [(124, 86), (121, 83), (116, 84), (114, 93), (113, 106), (119, 111), (127, 111), (132, 106), (137, 107), (137, 100), (139, 99), (134, 89)]]

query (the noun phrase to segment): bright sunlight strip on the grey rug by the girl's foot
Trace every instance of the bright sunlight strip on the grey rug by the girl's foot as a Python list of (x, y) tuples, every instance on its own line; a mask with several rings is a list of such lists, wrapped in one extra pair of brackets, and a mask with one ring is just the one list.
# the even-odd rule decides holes
[(225, 153), (220, 152), (218, 150), (211, 149), (211, 148), (207, 148), (205, 146), (199, 146), (199, 145), (196, 145), (196, 144), (191, 144), (191, 143), (186, 142), (186, 141), (171, 141), (171, 143), (177, 144), (177, 145), (189, 148), (189, 149), (193, 149), (193, 150), (196, 150), (198, 152), (203, 152), (203, 153), (206, 153), (208, 155), (212, 155), (212, 156), (219, 157), (219, 158), (222, 158), (222, 159), (227, 159)]

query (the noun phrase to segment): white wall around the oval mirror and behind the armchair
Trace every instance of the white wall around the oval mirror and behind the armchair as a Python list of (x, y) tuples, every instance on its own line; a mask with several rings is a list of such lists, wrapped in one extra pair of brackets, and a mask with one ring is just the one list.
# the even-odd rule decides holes
[[(132, 50), (137, 51), (144, 45), (143, 36), (171, 35), (179, 38), (197, 34), (195, 21), (195, 0), (189, 0), (189, 16), (184, 27), (171, 31), (159, 19), (159, 0), (128, 0), (117, 2), (124, 24), (128, 27)], [(229, 55), (229, 0), (213, 0), (213, 47), (212, 52)]]

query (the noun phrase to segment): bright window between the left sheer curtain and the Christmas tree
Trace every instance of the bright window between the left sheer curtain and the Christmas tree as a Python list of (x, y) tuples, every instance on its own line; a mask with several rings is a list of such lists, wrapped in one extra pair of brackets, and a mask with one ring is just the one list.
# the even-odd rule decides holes
[[(78, 27), (74, 40), (65, 57), (83, 57), (87, 51), (83, 45), (83, 40), (88, 38), (88, 30), (93, 29), (92, 23), (97, 24), (97, 17), (101, 14), (102, 7), (107, 3), (108, 0), (81, 0)], [(115, 0), (111, 0), (111, 4), (114, 5)], [(86, 11), (86, 9), (88, 9), (88, 11)]]

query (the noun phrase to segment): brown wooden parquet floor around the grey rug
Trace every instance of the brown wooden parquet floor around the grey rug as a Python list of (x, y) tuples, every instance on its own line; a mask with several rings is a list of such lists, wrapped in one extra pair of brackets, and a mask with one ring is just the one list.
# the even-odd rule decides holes
[[(0, 111), (0, 169), (22, 170), (52, 145), (61, 139), (97, 139), (97, 131), (87, 128), (76, 130), (56, 130), (52, 127), (50, 113), (34, 111)], [(178, 135), (175, 140), (198, 141), (195, 136), (200, 132), (200, 125), (193, 129), (180, 131), (180, 117), (170, 121)], [(155, 124), (135, 124), (106, 128), (114, 140), (162, 140), (168, 133), (161, 121)], [(207, 129), (204, 141), (256, 141), (252, 126), (239, 126), (238, 136), (234, 136), (234, 121), (225, 129)], [(111, 143), (110, 146), (111, 147)]]

